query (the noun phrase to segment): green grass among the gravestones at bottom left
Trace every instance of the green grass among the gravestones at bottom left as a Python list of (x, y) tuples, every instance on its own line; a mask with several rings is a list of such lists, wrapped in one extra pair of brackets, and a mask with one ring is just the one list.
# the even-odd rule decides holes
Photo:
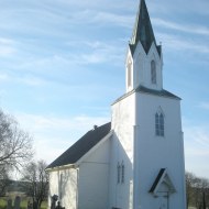
[[(11, 198), (11, 199), (12, 199), (12, 206), (13, 206), (14, 198)], [(7, 200), (8, 200), (8, 197), (0, 197), (0, 209), (7, 209)], [(26, 209), (29, 200), (31, 200), (29, 197), (21, 198), (21, 205), (20, 205), (21, 209)], [(41, 209), (47, 209), (46, 201), (42, 202)]]

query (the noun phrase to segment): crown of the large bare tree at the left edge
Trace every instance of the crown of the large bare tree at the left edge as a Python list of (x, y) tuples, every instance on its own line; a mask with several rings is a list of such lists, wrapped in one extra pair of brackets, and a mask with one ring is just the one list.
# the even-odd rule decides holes
[(19, 168), (32, 156), (32, 139), (18, 122), (0, 110), (0, 168)]

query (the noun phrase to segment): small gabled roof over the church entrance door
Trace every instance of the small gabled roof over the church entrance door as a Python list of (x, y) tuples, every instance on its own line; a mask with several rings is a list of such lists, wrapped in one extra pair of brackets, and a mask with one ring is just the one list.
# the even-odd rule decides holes
[[(169, 176), (167, 174), (166, 168), (161, 168), (160, 169), (160, 172), (158, 172), (158, 174), (157, 174), (157, 176), (156, 176), (156, 178), (155, 178), (155, 180), (154, 180), (154, 183), (153, 183), (153, 185), (152, 185), (148, 193), (152, 193), (155, 196), (157, 196), (157, 191), (160, 191), (160, 187), (161, 187), (162, 184), (166, 185), (166, 187), (168, 189), (168, 193), (172, 194), (172, 193), (176, 191), (176, 189), (175, 189), (175, 187), (174, 187), (174, 185), (173, 185), (173, 183), (172, 183), (172, 180), (170, 180), (170, 178), (169, 178)], [(162, 190), (160, 193), (162, 193)]]

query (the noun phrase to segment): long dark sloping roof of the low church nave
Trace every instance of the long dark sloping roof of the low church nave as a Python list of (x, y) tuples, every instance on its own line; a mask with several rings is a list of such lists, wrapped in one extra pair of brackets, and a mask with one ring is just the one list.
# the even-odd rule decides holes
[(100, 142), (111, 130), (111, 123), (106, 123), (88, 131), (74, 145), (65, 151), (59, 157), (51, 163), (47, 168), (63, 165), (75, 164), (88, 151), (90, 151), (98, 142)]

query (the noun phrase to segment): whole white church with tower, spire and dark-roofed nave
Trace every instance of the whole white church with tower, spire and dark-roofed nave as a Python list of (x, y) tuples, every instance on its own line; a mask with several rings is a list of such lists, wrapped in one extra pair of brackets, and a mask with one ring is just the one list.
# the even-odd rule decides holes
[(180, 98), (163, 88), (144, 0), (128, 45), (125, 94), (111, 122), (88, 131), (46, 170), (66, 209), (186, 209)]

